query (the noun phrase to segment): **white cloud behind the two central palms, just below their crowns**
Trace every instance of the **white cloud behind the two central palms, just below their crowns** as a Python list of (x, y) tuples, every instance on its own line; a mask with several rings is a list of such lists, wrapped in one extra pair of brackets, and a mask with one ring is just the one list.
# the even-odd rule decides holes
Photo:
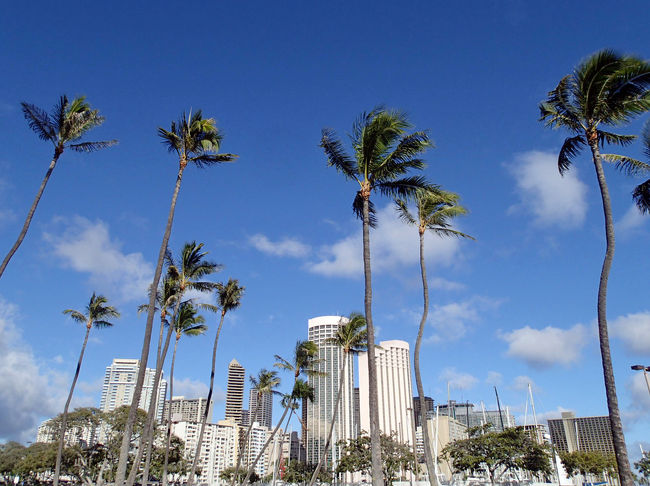
[[(370, 233), (370, 255), (373, 272), (393, 270), (420, 261), (417, 230), (399, 220), (392, 205), (377, 211), (379, 224)], [(428, 265), (451, 265), (458, 260), (460, 240), (440, 238), (427, 233), (425, 259)], [(350, 236), (320, 249), (320, 259), (309, 262), (313, 273), (328, 277), (363, 276), (363, 245), (361, 223)]]

